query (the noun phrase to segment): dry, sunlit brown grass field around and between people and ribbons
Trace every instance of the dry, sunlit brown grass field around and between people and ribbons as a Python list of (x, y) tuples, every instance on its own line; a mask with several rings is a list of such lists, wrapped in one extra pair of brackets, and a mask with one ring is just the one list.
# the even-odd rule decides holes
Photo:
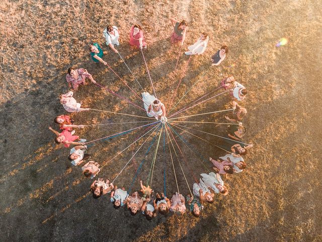
[[(319, 0), (2, 1), (0, 241), (322, 241), (322, 165), (318, 153), (322, 143), (321, 10)], [(178, 98), (208, 69), (210, 56), (222, 44), (230, 50), (224, 62), (211, 68), (178, 108), (215, 89), (223, 77), (233, 75), (249, 91), (241, 103), (249, 112), (243, 120), (248, 130), (244, 140), (254, 148), (245, 157), (248, 167), (244, 172), (223, 176), (229, 194), (217, 195), (200, 218), (159, 215), (147, 221), (141, 214), (133, 217), (126, 209), (115, 210), (109, 196), (93, 199), (91, 181), (79, 167), (71, 167), (69, 150), (54, 143), (48, 126), (58, 129), (53, 118), (65, 113), (58, 96), (68, 90), (65, 74), (70, 66), (86, 68), (97, 82), (142, 105), (111, 71), (89, 59), (88, 46), (98, 41), (109, 51), (106, 61), (113, 70), (140, 92), (119, 56), (104, 45), (102, 31), (108, 23), (119, 27), (118, 49), (151, 93), (142, 55), (127, 43), (130, 26), (143, 26), (147, 65), (157, 96), (167, 104), (188, 61), (182, 54), (179, 71), (174, 72), (179, 46), (169, 41), (170, 17), (190, 23), (185, 48), (201, 32), (210, 36), (205, 53), (191, 58)], [(281, 37), (288, 43), (277, 48)], [(145, 115), (93, 84), (82, 86), (74, 96), (84, 107)], [(223, 94), (185, 114), (223, 110), (229, 108), (230, 101)], [(72, 116), (77, 124), (88, 125), (143, 120), (99, 111)], [(225, 122), (222, 113), (186, 120)], [(94, 140), (137, 126), (86, 128), (76, 134)], [(225, 135), (223, 125), (186, 126)], [(140, 134), (142, 129), (94, 142), (88, 153), (102, 164)], [(196, 137), (180, 134), (206, 160), (225, 154)], [(214, 144), (221, 142), (217, 137), (195, 134)], [(113, 179), (140, 144), (142, 141), (106, 164), (99, 177)], [(195, 157), (183, 143), (180, 146), (196, 176), (207, 171), (205, 166), (211, 169), (209, 162)], [(142, 147), (115, 184), (129, 188), (146, 149), (147, 145)], [(139, 179), (147, 179), (152, 153), (146, 156), (132, 191), (139, 188)], [(163, 191), (166, 159), (170, 196), (176, 192), (176, 183), (168, 153), (163, 156), (160, 146), (152, 186)], [(180, 192), (188, 194), (178, 163), (175, 165)], [(192, 187), (193, 175), (183, 165)]]

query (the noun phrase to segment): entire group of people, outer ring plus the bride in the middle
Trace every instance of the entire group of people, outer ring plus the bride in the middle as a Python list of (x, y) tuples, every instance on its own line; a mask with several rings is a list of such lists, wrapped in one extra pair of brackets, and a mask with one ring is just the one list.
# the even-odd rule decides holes
[[(183, 45), (188, 30), (187, 21), (183, 20), (179, 22), (174, 18), (171, 18), (170, 20), (174, 27), (174, 31), (170, 37), (171, 42), (173, 44), (179, 42)], [(129, 31), (129, 35), (130, 45), (141, 49), (147, 48), (147, 43), (145, 42), (140, 25), (133, 25)], [(119, 46), (120, 44), (120, 30), (116, 26), (108, 25), (103, 31), (103, 37), (106, 39), (106, 45), (114, 52), (118, 53), (116, 46)], [(186, 51), (185, 54), (202, 54), (207, 47), (208, 40), (208, 34), (202, 33), (200, 38), (193, 45), (188, 47), (188, 51)], [(91, 59), (95, 63), (107, 65), (104, 61), (104, 56), (107, 54), (107, 51), (103, 51), (98, 43), (90, 45), (89, 50)], [(225, 59), (227, 53), (228, 47), (225, 45), (222, 46), (211, 57), (211, 65), (218, 66)], [(66, 75), (68, 87), (73, 90), (77, 90), (79, 85), (84, 85), (86, 78), (89, 78), (92, 83), (96, 83), (93, 76), (83, 68), (69, 68), (68, 74)], [(229, 95), (237, 101), (244, 100), (247, 94), (246, 88), (236, 82), (233, 76), (224, 78), (220, 82), (220, 87), (225, 90), (229, 89)], [(142, 100), (147, 116), (154, 116), (163, 123), (167, 120), (166, 107), (162, 102), (146, 92), (142, 93)], [(90, 110), (90, 108), (82, 107), (82, 104), (78, 103), (73, 98), (73, 91), (62, 94), (60, 96), (60, 103), (67, 112)], [(210, 162), (213, 164), (214, 172), (201, 174), (199, 183), (193, 184), (192, 196), (189, 194), (185, 198), (182, 194), (176, 192), (172, 198), (169, 199), (164, 193), (156, 193), (154, 198), (153, 190), (149, 186), (145, 187), (142, 184), (142, 181), (140, 181), (142, 196), (140, 196), (138, 192), (129, 195), (124, 187), (118, 188), (116, 185), (110, 183), (109, 179), (98, 178), (95, 179), (90, 186), (93, 197), (97, 199), (102, 195), (110, 193), (110, 200), (115, 209), (126, 205), (132, 215), (136, 215), (140, 211), (148, 220), (155, 217), (157, 213), (166, 215), (169, 211), (172, 211), (177, 214), (183, 214), (186, 212), (186, 204), (188, 205), (188, 210), (191, 211), (194, 216), (199, 217), (201, 210), (204, 208), (203, 204), (213, 203), (215, 194), (222, 194), (225, 196), (228, 193), (220, 174), (232, 174), (243, 171), (246, 168), (243, 156), (245, 156), (248, 150), (253, 147), (252, 144), (245, 145), (241, 142), (241, 139), (246, 133), (246, 128), (240, 121), (247, 114), (246, 108), (241, 107), (236, 101), (232, 101), (232, 108), (233, 111), (228, 113), (225, 118), (231, 122), (238, 122), (238, 125), (228, 126), (227, 136), (229, 139), (225, 139), (224, 145), (220, 146), (224, 150), (229, 150), (230, 153), (219, 157), (218, 159), (209, 157)], [(59, 129), (61, 130), (61, 133), (59, 133), (49, 127), (49, 130), (56, 135), (55, 142), (63, 144), (66, 148), (70, 147), (70, 145), (74, 145), (68, 156), (71, 164), (78, 166), (85, 162), (82, 167), (83, 174), (92, 179), (96, 177), (100, 172), (100, 164), (95, 161), (86, 162), (86, 160), (91, 158), (89, 154), (85, 154), (87, 149), (85, 142), (87, 140), (80, 139), (78, 136), (74, 135), (75, 130), (73, 129), (83, 129), (85, 128), (85, 125), (75, 125), (74, 120), (71, 119), (69, 115), (64, 114), (56, 116), (54, 122), (59, 125)]]

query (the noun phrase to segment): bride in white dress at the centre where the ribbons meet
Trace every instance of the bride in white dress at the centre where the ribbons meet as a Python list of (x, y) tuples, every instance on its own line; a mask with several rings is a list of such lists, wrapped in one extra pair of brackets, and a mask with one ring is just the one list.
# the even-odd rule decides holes
[(153, 95), (150, 95), (148, 92), (142, 92), (141, 94), (147, 116), (155, 117), (156, 120), (162, 116), (166, 117), (165, 104), (160, 102), (160, 100), (156, 99)]

